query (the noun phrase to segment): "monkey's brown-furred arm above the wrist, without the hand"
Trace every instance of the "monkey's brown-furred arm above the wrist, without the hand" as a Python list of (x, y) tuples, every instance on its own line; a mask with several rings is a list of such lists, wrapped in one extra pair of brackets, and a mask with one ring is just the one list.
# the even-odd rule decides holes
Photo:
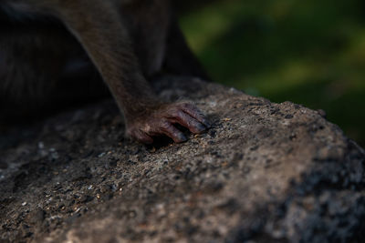
[(137, 57), (132, 52), (130, 36), (110, 1), (31, 2), (31, 6), (38, 7), (41, 12), (55, 15), (77, 37), (125, 116), (143, 110), (146, 105), (156, 104), (157, 98), (141, 75)]

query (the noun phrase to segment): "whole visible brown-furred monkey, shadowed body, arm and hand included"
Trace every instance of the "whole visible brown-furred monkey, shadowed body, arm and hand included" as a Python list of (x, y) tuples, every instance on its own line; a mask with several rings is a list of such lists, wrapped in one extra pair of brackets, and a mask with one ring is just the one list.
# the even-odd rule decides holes
[[(162, 69), (205, 78), (165, 0), (0, 0), (0, 109), (30, 113), (101, 96), (104, 80), (127, 134), (143, 143), (209, 127), (192, 104), (162, 103)], [(51, 105), (51, 106), (53, 106)], [(5, 113), (6, 114), (6, 113)]]

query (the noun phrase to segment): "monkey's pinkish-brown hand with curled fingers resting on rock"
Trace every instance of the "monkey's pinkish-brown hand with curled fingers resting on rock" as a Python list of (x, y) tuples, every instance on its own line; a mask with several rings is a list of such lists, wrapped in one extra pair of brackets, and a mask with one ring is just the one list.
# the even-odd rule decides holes
[(144, 144), (151, 144), (152, 137), (161, 136), (171, 137), (175, 143), (186, 141), (183, 132), (174, 125), (186, 127), (193, 134), (200, 134), (210, 127), (203, 113), (187, 102), (157, 106), (127, 121), (127, 136)]

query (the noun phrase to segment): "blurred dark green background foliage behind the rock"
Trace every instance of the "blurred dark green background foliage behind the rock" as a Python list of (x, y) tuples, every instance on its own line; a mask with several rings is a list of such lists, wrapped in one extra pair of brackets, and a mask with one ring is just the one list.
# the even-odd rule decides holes
[(365, 147), (364, 0), (188, 2), (183, 32), (214, 81), (323, 109)]

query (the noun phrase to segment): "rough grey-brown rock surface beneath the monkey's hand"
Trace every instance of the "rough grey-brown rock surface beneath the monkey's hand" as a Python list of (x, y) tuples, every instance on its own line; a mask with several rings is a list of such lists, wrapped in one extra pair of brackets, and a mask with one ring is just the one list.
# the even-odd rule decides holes
[(0, 135), (0, 241), (362, 242), (364, 150), (323, 112), (199, 80), (155, 84), (214, 122), (124, 138), (111, 100)]

